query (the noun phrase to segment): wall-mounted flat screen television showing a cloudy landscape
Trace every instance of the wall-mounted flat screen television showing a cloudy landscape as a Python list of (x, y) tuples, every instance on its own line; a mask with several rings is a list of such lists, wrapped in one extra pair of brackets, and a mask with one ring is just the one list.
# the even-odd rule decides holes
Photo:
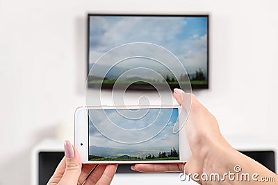
[[(131, 90), (155, 89), (157, 85), (174, 89), (190, 80), (192, 89), (207, 89), (208, 35), (208, 15), (89, 14), (88, 88), (113, 89), (117, 82), (117, 88)], [(177, 62), (161, 67), (159, 62), (146, 58), (112, 61), (120, 58), (117, 53), (104, 59), (109, 51), (131, 43), (162, 47), (177, 57), (185, 70)], [(140, 50), (144, 49), (149, 52), (143, 44)], [(132, 69), (137, 70), (126, 73)], [(144, 69), (151, 69), (160, 77)]]

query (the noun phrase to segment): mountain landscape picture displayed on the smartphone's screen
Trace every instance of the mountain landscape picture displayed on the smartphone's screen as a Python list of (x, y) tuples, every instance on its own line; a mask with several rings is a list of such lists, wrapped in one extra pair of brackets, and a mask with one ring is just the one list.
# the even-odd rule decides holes
[[(126, 109), (126, 112), (129, 111), (134, 114), (139, 110), (140, 113), (141, 109), (130, 110)], [(173, 133), (174, 125), (178, 123), (179, 109), (152, 108), (148, 109), (147, 114), (136, 119), (126, 118), (118, 111), (119, 109), (89, 110), (89, 161), (179, 160), (179, 132)], [(122, 109), (121, 111), (125, 110)], [(111, 120), (116, 123), (111, 123)], [(157, 128), (158, 133), (151, 139), (146, 139), (140, 143), (121, 143), (113, 141), (97, 129), (99, 125), (104, 127), (107, 125), (108, 132), (113, 133), (113, 130), (109, 130), (111, 124), (117, 124), (124, 130), (140, 130), (152, 124), (149, 129), (155, 130)], [(96, 127), (96, 125), (98, 126)], [(160, 129), (161, 127), (162, 129)], [(117, 131), (115, 134), (121, 135), (122, 133)], [(136, 137), (136, 134), (132, 134), (132, 136)], [(137, 137), (140, 136), (137, 135)], [(142, 137), (142, 139), (145, 138)]]

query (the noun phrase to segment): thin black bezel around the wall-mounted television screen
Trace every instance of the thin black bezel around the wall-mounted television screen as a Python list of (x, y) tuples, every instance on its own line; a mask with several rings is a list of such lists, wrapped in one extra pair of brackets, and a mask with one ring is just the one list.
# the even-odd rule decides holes
[[(138, 14), (129, 14), (129, 13), (88, 13), (87, 16), (87, 77), (90, 73), (90, 16), (129, 16), (129, 17), (206, 17), (207, 18), (207, 26), (206, 26), (206, 33), (207, 33), (207, 39), (206, 39), (206, 73), (207, 73), (207, 84), (206, 85), (191, 85), (192, 89), (208, 89), (209, 86), (209, 38), (210, 38), (210, 32), (209, 32), (209, 15), (208, 14), (167, 14), (167, 13), (156, 13), (156, 14), (145, 14), (145, 13), (138, 13)], [(88, 81), (86, 82), (86, 86), (89, 89), (93, 89), (94, 85), (90, 86)], [(169, 84), (168, 84), (169, 85)], [(168, 86), (167, 85), (167, 86)], [(101, 89), (113, 89), (113, 84), (101, 84)], [(177, 85), (169, 85), (171, 89), (179, 88)], [(129, 90), (154, 90), (155, 88), (152, 85), (131, 85), (128, 88)], [(167, 89), (167, 88), (165, 88)]]

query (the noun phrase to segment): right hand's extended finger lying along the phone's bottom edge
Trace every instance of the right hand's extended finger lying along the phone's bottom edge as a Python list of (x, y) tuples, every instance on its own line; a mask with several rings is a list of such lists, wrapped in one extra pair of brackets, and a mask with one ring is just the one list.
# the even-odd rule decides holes
[(131, 170), (144, 173), (180, 172), (184, 164), (136, 164)]

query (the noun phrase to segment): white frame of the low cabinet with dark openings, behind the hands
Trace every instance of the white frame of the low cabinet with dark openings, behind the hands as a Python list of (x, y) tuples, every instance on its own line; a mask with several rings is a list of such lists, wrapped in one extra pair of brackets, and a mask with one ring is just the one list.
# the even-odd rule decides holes
[[(277, 144), (264, 143), (262, 141), (248, 141), (246, 139), (240, 139), (236, 141), (234, 139), (228, 139), (231, 145), (238, 150), (273, 150), (275, 151), (275, 168), (278, 169), (278, 152)], [(44, 140), (42, 143), (35, 146), (31, 156), (31, 185), (38, 185), (38, 154), (40, 152), (63, 152), (63, 143), (55, 140)], [(182, 182), (179, 180), (179, 173), (129, 173), (129, 174), (116, 174), (113, 185), (122, 184), (197, 184), (190, 179), (188, 182)]]

